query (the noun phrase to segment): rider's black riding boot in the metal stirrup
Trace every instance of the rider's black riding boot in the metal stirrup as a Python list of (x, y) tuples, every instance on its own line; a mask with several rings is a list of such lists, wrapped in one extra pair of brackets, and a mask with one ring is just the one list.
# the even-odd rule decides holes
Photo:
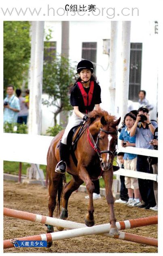
[(70, 152), (68, 146), (64, 143), (61, 143), (61, 141), (59, 143), (59, 154), (60, 161), (57, 164), (55, 171), (61, 174), (65, 174), (67, 168), (66, 162), (68, 162)]

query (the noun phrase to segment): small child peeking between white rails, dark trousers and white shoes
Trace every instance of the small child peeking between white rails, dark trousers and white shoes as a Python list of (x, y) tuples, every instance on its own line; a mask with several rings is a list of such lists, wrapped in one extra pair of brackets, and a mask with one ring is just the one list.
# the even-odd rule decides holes
[[(117, 157), (120, 161), (121, 168), (124, 168), (124, 159), (123, 159), (124, 153), (123, 152), (119, 152), (117, 154)], [(121, 203), (121, 204), (125, 204), (128, 202), (129, 200), (129, 196), (128, 196), (128, 190), (125, 187), (125, 176), (120, 175), (120, 180), (121, 180), (121, 190), (120, 190), (120, 198), (115, 200), (115, 203)]]

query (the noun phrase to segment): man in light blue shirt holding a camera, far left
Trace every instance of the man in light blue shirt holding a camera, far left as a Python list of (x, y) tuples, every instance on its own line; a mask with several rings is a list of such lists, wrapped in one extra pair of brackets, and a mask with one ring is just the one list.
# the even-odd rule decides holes
[(4, 115), (3, 121), (10, 124), (17, 123), (20, 104), (18, 98), (14, 95), (13, 85), (8, 85), (6, 89), (7, 96), (4, 99)]

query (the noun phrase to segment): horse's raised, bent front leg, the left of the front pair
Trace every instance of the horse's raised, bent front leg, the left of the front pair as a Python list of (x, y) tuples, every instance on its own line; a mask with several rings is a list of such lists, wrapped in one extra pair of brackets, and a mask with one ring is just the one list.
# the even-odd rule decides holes
[(94, 213), (93, 191), (95, 189), (95, 186), (94, 186), (93, 182), (91, 181), (86, 168), (83, 167), (83, 166), (80, 166), (79, 177), (85, 182), (86, 188), (87, 188), (87, 192), (89, 194), (88, 213), (85, 216), (85, 224), (88, 227), (91, 227), (91, 226), (93, 226), (95, 224), (94, 216), (93, 216), (93, 213)]

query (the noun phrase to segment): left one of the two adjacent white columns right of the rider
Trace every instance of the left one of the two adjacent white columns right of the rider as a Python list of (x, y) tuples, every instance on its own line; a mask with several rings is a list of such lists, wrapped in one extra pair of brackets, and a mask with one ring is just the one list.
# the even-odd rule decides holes
[(117, 67), (117, 39), (118, 39), (118, 22), (111, 22), (110, 33), (110, 64), (109, 64), (109, 95), (108, 95), (108, 112), (114, 115), (115, 108), (115, 89), (116, 89), (116, 67)]

